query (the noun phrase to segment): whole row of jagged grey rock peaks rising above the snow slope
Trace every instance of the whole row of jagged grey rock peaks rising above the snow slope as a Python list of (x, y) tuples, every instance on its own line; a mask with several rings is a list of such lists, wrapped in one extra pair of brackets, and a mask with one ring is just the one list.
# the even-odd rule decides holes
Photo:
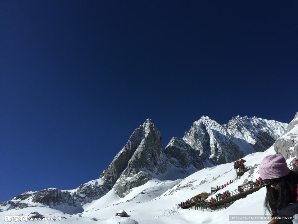
[(183, 139), (172, 138), (162, 148), (162, 137), (150, 119), (137, 128), (124, 148), (100, 177), (111, 183), (119, 197), (152, 177), (167, 174), (169, 167), (181, 168), (189, 175), (204, 168), (207, 160), (223, 164), (255, 151), (265, 151), (284, 131), (286, 124), (260, 118), (237, 116), (228, 125), (219, 125), (203, 116), (194, 122)]

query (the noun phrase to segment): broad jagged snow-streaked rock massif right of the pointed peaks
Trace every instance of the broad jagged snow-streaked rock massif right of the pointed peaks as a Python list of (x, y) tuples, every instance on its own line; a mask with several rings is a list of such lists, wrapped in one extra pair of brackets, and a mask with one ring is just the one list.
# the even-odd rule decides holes
[(287, 124), (236, 116), (219, 125), (207, 116), (194, 122), (183, 140), (200, 152), (203, 162), (219, 165), (256, 151), (265, 151), (283, 134)]

